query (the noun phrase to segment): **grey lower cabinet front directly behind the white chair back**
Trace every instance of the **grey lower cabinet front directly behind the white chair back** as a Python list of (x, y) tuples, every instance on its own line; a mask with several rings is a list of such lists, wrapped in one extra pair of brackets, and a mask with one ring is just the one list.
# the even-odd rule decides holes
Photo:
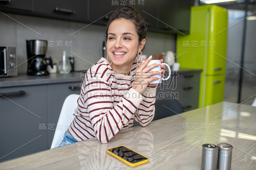
[[(60, 110), (62, 108), (63, 102), (66, 97), (70, 94), (80, 94), (80, 85), (81, 82), (74, 83), (61, 83), (61, 84), (49, 84), (47, 85), (47, 114), (48, 114), (48, 123), (53, 125), (54, 130), (48, 131), (48, 148), (50, 149), (52, 144), (52, 139), (54, 132), (56, 130), (57, 122), (60, 116)], [(68, 127), (62, 127), (67, 129)]]

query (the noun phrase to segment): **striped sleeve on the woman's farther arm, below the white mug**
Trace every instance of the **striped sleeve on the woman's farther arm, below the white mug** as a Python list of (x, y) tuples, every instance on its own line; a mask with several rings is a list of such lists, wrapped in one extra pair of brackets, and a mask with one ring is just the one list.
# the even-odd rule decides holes
[(141, 126), (146, 126), (152, 121), (155, 115), (156, 87), (147, 87), (141, 94), (144, 99), (141, 101), (135, 115), (134, 120)]

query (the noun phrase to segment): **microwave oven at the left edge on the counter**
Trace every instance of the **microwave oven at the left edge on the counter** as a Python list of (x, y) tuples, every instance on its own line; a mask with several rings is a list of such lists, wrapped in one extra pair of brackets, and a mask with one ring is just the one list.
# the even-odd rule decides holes
[(16, 47), (0, 46), (0, 77), (17, 76)]

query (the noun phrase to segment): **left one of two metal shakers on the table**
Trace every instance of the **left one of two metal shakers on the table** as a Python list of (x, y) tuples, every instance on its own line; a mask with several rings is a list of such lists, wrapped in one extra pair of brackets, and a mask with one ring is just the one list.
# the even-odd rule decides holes
[(203, 144), (202, 170), (216, 170), (218, 147), (214, 144)]

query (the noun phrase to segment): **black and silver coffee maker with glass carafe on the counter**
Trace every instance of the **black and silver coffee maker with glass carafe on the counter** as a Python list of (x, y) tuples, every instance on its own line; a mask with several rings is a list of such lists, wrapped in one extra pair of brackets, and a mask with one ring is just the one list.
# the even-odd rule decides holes
[(27, 55), (28, 55), (28, 71), (27, 74), (31, 76), (43, 76), (50, 73), (46, 70), (47, 63), (52, 66), (52, 58), (46, 57), (46, 50), (48, 42), (46, 40), (26, 40), (27, 41)]

